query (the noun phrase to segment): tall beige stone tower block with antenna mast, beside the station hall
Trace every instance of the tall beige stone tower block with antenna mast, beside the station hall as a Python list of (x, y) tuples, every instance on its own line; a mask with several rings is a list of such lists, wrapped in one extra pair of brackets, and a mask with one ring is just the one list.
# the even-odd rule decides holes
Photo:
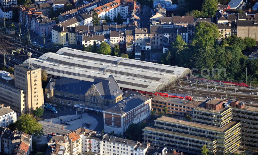
[(43, 89), (41, 86), (41, 68), (29, 67), (28, 64), (14, 66), (15, 87), (25, 91), (25, 111), (39, 107), (44, 109)]

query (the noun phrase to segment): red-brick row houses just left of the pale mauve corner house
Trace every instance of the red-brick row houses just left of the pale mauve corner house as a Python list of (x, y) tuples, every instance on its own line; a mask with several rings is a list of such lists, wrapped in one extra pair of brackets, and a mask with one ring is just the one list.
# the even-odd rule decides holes
[(34, 7), (19, 7), (19, 22), (26, 28), (30, 28), (30, 21), (33, 15), (42, 15), (41, 11), (37, 11)]

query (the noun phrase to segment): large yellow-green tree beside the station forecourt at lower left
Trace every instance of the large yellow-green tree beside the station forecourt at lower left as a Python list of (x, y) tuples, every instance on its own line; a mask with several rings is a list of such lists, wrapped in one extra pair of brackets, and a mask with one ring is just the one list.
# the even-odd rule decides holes
[(43, 135), (42, 125), (37, 122), (32, 114), (21, 115), (20, 119), (16, 122), (16, 127), (19, 131), (35, 135), (36, 137)]

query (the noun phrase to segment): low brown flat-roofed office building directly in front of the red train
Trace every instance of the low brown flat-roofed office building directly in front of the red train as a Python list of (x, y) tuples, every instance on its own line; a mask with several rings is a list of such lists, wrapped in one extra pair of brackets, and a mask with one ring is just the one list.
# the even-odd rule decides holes
[(182, 99), (168, 98), (163, 96), (155, 96), (151, 99), (151, 109), (158, 112), (163, 112), (167, 107), (167, 114), (184, 116), (192, 115), (193, 109), (199, 106), (200, 103), (195, 101), (186, 101)]

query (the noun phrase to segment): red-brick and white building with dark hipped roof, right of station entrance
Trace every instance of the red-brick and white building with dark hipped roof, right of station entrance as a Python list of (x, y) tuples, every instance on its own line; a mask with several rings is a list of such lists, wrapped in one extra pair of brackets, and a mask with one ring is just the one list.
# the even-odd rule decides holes
[(130, 95), (103, 111), (104, 130), (123, 134), (131, 123), (138, 123), (150, 115), (151, 98)]

